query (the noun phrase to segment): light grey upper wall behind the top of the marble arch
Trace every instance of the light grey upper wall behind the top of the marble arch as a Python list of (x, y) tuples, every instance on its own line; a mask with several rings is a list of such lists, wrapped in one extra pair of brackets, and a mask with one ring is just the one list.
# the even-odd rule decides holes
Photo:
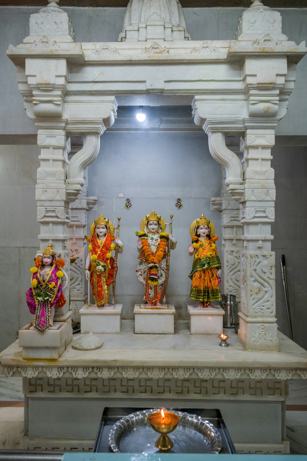
[[(70, 15), (77, 41), (117, 41), (125, 8), (63, 8)], [(6, 56), (9, 43), (17, 45), (29, 35), (29, 16), (35, 7), (0, 8), (0, 136), (35, 134), (36, 129), (23, 110), (16, 69)], [(187, 29), (193, 40), (233, 38), (242, 8), (185, 8)], [(283, 32), (299, 44), (307, 39), (307, 9), (280, 9)], [(297, 82), (289, 109), (279, 122), (278, 135), (306, 135), (307, 58), (297, 66)], [(12, 139), (10, 140), (12, 141)]]

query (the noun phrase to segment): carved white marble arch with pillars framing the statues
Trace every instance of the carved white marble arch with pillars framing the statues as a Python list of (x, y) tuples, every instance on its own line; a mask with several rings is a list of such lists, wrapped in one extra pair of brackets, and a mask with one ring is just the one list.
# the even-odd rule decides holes
[[(191, 40), (176, 0), (151, 0), (146, 7), (131, 0), (114, 43), (76, 42), (59, 0), (48, 3), (31, 15), (29, 36), (7, 51), (38, 129), (41, 248), (52, 240), (69, 259), (71, 213), (85, 214), (93, 206), (94, 198), (82, 196), (83, 172), (97, 157), (100, 136), (114, 123), (116, 96), (190, 96), (194, 121), (225, 169), (226, 194), (214, 198), (212, 206), (222, 212), (224, 230), (237, 229), (225, 239), (223, 260), (225, 289), (241, 296), (239, 340), (249, 350), (278, 350), (271, 148), (305, 43), (289, 41), (280, 13), (258, 0), (238, 18), (235, 37), (227, 41)], [(71, 135), (84, 136), (84, 145), (69, 161)], [(243, 167), (226, 147), (225, 135), (241, 136)], [(68, 307), (63, 309), (58, 315), (66, 319)]]

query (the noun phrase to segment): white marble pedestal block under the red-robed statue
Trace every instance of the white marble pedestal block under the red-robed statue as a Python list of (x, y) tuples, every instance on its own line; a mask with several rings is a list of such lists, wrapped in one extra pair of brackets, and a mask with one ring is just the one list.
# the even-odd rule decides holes
[(115, 307), (81, 307), (81, 333), (120, 333), (122, 304)]

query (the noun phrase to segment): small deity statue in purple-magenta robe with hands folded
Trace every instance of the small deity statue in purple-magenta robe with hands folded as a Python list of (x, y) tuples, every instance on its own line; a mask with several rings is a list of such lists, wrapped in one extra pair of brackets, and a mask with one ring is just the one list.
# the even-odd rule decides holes
[[(63, 267), (65, 261), (56, 259), (56, 254), (49, 244), (43, 253), (35, 255), (35, 266), (31, 267), (31, 288), (26, 292), (27, 304), (31, 314), (35, 314), (33, 328), (45, 333), (53, 325), (55, 306), (64, 306), (63, 295), (68, 284), (68, 276)], [(64, 276), (65, 284), (60, 284)]]

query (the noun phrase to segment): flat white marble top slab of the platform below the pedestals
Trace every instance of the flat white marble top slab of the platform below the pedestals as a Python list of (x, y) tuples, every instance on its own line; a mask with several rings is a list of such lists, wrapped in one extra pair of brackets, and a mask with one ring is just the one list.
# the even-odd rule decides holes
[[(227, 340), (228, 348), (219, 346), (219, 339), (214, 335), (191, 335), (188, 322), (177, 320), (174, 335), (138, 335), (134, 334), (133, 320), (123, 320), (122, 331), (117, 334), (102, 334), (99, 337), (104, 342), (101, 349), (88, 351), (86, 355), (69, 346), (64, 354), (54, 361), (54, 366), (140, 366), (151, 363), (151, 366), (214, 366), (246, 367), (259, 370), (294, 368), (306, 370), (307, 351), (295, 344), (289, 338), (278, 332), (279, 352), (246, 351), (237, 341), (233, 333)], [(229, 329), (224, 329), (229, 334)], [(78, 337), (80, 333), (74, 335)], [(210, 351), (208, 353), (207, 351)], [(11, 344), (0, 354), (1, 370), (6, 366), (46, 366), (44, 360), (25, 360), (18, 341)], [(2, 371), (3, 372), (3, 371)], [(20, 371), (14, 371), (14, 376), (20, 376)], [(300, 376), (292, 374), (292, 379)], [(285, 379), (290, 379), (285, 377)]]

